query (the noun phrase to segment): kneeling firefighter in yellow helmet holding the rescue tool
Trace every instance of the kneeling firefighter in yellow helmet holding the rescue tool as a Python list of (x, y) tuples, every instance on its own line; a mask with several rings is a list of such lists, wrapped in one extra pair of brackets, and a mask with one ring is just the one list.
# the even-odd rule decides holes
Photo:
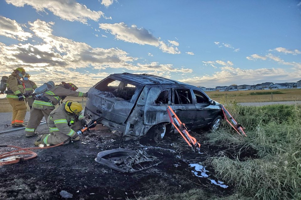
[[(57, 145), (67, 139), (79, 140), (76, 133), (87, 124), (85, 118), (81, 115), (82, 105), (80, 103), (68, 100), (53, 110), (47, 120), (50, 134), (44, 134), (34, 141), (35, 146)], [(65, 144), (69, 143), (67, 141)]]

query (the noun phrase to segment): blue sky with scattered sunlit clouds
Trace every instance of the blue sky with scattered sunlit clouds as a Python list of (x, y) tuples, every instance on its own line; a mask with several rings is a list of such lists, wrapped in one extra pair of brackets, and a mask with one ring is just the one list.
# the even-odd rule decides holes
[(124, 72), (206, 88), (297, 82), (300, 38), (300, 0), (0, 0), (0, 76), (23, 67), (38, 86), (82, 92)]

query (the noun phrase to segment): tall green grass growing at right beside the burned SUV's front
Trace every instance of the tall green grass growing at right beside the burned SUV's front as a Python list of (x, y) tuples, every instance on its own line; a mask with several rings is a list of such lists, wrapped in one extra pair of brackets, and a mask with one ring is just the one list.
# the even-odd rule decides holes
[(234, 133), (229, 125), (208, 137), (219, 145), (252, 147), (257, 159), (240, 161), (220, 153), (207, 163), (243, 194), (258, 199), (301, 199), (301, 106), (234, 104), (228, 110), (246, 127), (248, 137)]

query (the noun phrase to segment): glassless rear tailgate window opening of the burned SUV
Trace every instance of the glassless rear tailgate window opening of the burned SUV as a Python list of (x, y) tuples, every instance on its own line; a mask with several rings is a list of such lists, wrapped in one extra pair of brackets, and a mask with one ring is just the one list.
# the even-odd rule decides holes
[(103, 92), (108, 92), (109, 94), (106, 94), (106, 97), (119, 97), (127, 101), (132, 98), (136, 91), (135, 85), (111, 78), (98, 84), (95, 88)]

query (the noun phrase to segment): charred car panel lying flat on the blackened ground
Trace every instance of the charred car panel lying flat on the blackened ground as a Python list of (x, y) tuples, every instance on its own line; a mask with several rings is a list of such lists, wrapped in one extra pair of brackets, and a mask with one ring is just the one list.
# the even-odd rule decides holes
[(99, 152), (95, 161), (124, 173), (139, 172), (162, 163), (157, 157), (148, 155), (143, 150), (124, 148)]

